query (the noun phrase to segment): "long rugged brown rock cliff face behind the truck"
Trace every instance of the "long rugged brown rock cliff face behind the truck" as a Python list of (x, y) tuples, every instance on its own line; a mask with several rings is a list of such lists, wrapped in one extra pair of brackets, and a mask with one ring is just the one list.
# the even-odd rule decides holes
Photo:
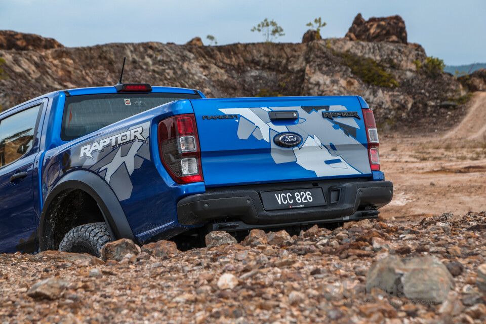
[(440, 103), (465, 93), (448, 73), (417, 70), (426, 59), (418, 45), (332, 38), (306, 44), (0, 50), (5, 59), (0, 104), (7, 109), (54, 90), (114, 85), (124, 56), (125, 82), (195, 88), (208, 97), (360, 95), (379, 122), (390, 124), (445, 115)]

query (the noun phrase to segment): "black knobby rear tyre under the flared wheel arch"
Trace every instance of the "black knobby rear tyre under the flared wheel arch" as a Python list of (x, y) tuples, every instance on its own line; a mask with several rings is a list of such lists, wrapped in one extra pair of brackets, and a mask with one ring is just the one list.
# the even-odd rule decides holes
[(64, 235), (59, 251), (89, 253), (100, 257), (101, 248), (111, 241), (106, 223), (90, 223), (74, 227)]

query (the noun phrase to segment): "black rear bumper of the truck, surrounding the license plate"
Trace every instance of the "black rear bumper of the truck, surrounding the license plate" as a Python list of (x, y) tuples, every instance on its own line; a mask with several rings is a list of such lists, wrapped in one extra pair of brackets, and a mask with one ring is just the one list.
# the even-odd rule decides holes
[[(326, 198), (325, 206), (267, 211), (260, 195), (261, 191), (319, 187)], [(390, 181), (367, 179), (213, 188), (206, 193), (181, 199), (177, 204), (177, 217), (181, 225), (198, 225), (229, 218), (231, 223), (241, 222), (241, 226), (233, 225), (237, 230), (244, 229), (244, 224), (255, 228), (268, 227), (265, 225), (339, 222), (350, 220), (350, 216), (376, 217), (376, 210), (388, 204), (392, 197), (393, 184)], [(234, 219), (237, 219), (236, 223)]]

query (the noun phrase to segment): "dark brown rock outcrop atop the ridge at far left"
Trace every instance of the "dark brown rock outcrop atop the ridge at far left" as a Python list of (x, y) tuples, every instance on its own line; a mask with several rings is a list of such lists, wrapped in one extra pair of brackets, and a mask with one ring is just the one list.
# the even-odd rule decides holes
[(53, 38), (13, 30), (0, 30), (0, 50), (40, 51), (62, 47), (64, 46)]

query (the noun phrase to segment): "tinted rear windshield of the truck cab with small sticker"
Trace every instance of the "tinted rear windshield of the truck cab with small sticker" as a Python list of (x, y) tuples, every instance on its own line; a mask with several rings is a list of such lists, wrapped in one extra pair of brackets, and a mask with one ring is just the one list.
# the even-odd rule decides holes
[(140, 112), (179, 99), (200, 99), (196, 94), (132, 93), (66, 98), (61, 139), (70, 141)]

